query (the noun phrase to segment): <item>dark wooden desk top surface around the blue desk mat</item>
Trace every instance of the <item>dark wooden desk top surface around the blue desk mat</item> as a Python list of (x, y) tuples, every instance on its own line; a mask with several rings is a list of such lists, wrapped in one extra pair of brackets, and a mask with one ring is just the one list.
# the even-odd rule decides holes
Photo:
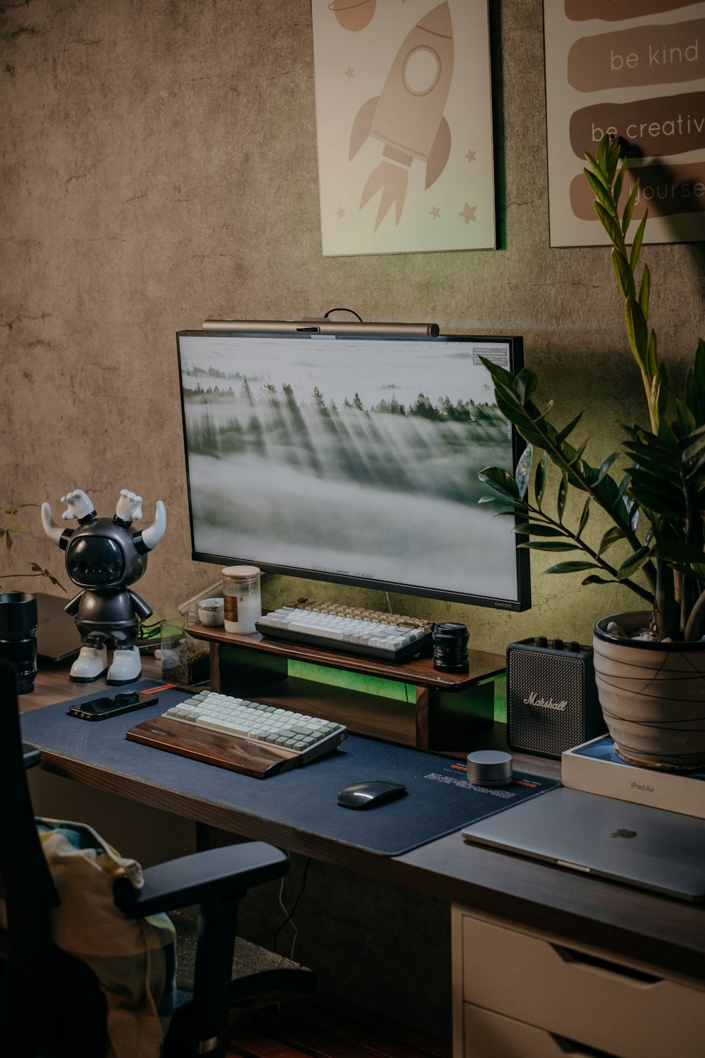
[[(107, 688), (71, 683), (69, 665), (43, 669), (33, 694), (20, 709), (36, 709)], [(161, 678), (157, 662), (146, 658), (144, 675)], [(497, 732), (501, 738), (501, 732)], [(518, 754), (526, 771), (556, 774), (558, 762)], [(394, 884), (453, 900), (534, 929), (604, 948), (615, 955), (663, 967), (705, 985), (705, 905), (656, 896), (617, 882), (572, 874), (549, 864), (467, 845), (453, 834), (400, 857), (364, 853), (326, 838), (259, 820), (246, 810), (207, 805), (154, 784), (129, 779), (60, 754), (44, 751), (42, 767), (86, 785), (177, 813), (245, 838), (274, 844), (370, 874)]]

